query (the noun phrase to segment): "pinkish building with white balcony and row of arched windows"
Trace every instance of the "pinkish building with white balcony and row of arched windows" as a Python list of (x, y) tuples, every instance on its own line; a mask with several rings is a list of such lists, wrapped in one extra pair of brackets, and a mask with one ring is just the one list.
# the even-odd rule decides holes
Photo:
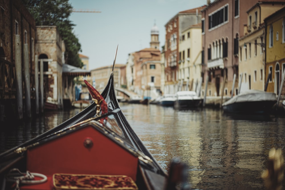
[(247, 23), (245, 13), (255, 3), (257, 0), (216, 0), (208, 1), (202, 9), (201, 75), (203, 86), (208, 83), (207, 96), (238, 93), (239, 38), (243, 36), (243, 25)]

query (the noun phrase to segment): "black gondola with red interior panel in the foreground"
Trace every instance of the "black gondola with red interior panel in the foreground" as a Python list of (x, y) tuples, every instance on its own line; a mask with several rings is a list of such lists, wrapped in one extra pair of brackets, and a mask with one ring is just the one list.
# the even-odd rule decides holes
[(181, 167), (167, 174), (144, 146), (119, 107), (113, 71), (102, 94), (84, 82), (90, 106), (0, 154), (1, 188), (176, 189)]

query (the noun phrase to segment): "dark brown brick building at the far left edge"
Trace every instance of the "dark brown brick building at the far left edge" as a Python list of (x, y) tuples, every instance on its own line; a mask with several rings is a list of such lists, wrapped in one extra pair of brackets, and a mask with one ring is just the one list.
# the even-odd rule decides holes
[(0, 11), (0, 107), (6, 116), (16, 112), (21, 119), (24, 104), (30, 117), (30, 104), (35, 103), (35, 21), (20, 0), (0, 1)]

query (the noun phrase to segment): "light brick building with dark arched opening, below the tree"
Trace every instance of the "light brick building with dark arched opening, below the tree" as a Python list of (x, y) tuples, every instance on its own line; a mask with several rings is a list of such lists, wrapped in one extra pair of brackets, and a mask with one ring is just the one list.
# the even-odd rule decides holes
[(64, 41), (56, 26), (36, 26), (36, 55), (38, 64), (43, 62), (44, 98), (51, 97), (57, 102), (58, 108), (63, 108), (64, 52)]

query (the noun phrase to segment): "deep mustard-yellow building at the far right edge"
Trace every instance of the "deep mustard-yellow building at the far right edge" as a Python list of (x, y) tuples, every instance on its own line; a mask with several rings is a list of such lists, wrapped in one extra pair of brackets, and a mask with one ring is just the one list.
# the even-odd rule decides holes
[(266, 79), (268, 79), (267, 92), (279, 93), (282, 88), (281, 96), (285, 95), (285, 85), (280, 86), (282, 77), (284, 80), (285, 68), (285, 7), (276, 11), (264, 19), (266, 35)]

